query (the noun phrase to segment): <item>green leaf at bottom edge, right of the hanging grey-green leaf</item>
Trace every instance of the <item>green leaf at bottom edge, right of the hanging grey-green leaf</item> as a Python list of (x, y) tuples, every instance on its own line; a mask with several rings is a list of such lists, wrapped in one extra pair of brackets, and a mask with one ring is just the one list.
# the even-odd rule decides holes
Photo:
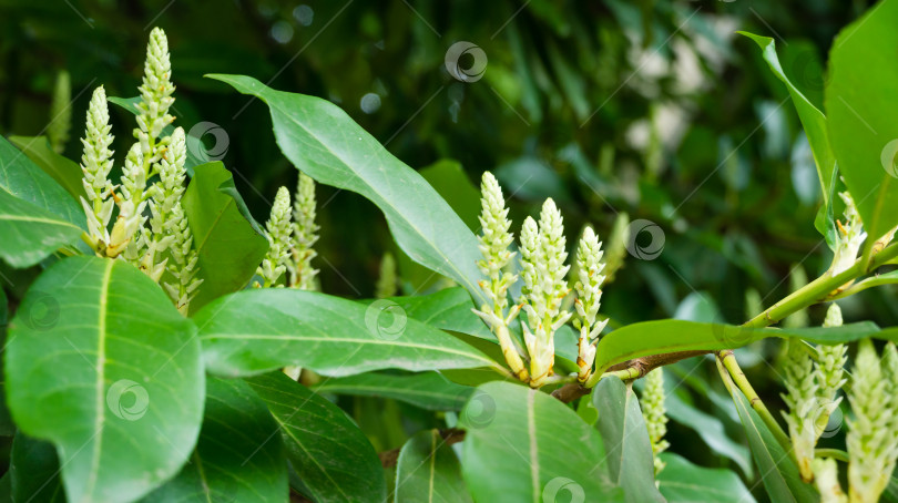
[(729, 470), (693, 464), (672, 452), (662, 452), (666, 463), (657, 475), (659, 490), (669, 503), (754, 503), (755, 497)]

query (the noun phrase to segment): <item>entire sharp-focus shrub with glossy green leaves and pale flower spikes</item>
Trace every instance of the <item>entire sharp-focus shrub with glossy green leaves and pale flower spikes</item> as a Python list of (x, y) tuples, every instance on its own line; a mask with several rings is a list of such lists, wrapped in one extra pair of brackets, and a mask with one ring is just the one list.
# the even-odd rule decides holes
[[(745, 448), (722, 424), (700, 434), (726, 444), (772, 501), (894, 497), (898, 329), (844, 324), (835, 301), (898, 281), (879, 274), (898, 263), (896, 148), (884, 140), (898, 137), (898, 123), (878, 105), (892, 97), (898, 65), (861, 66), (894, 55), (896, 22), (898, 3), (884, 2), (839, 37), (826, 115), (782, 72), (774, 41), (745, 34), (806, 130), (824, 195), (815, 226), (834, 258), (742, 326), (610, 324), (602, 290), (635, 243), (625, 218), (606, 250), (592, 227), (569, 247), (552, 199), (513, 223), (487, 172), (476, 235), (334, 104), (208, 75), (269, 109), (299, 172), (258, 225), (229, 172), (176, 126), (169, 44), (154, 29), (140, 95), (94, 90), (80, 165), (58, 154), (70, 130), (60, 103), (49, 143), (20, 151), (0, 140), (0, 258), (34, 273), (6, 333), (0, 425), (14, 438), (0, 492), (76, 502), (754, 501), (736, 472), (694, 464), (665, 439), (675, 396), (664, 367), (706, 358), (756, 470), (739, 463)], [(68, 88), (61, 74), (58, 102)], [(136, 122), (119, 171), (110, 104)], [(315, 244), (339, 230), (316, 224), (316, 183), (371, 201), (399, 248), (452, 286), (396, 297), (401, 278), (385, 255), (377, 299), (318, 291)], [(2, 297), (4, 309), (14, 305)], [(822, 327), (773, 327), (819, 302), (830, 302)], [(766, 338), (784, 345), (782, 411), (733, 352)], [(336, 404), (353, 394), (406, 402), (445, 428), (377, 453)], [(819, 448), (843, 414), (844, 445)]]

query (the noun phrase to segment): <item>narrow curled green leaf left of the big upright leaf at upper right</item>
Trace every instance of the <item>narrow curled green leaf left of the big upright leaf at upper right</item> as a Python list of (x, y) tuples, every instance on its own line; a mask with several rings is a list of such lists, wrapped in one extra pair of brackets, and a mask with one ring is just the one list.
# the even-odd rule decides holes
[[(789, 91), (792, 101), (795, 104), (795, 110), (798, 112), (798, 119), (805, 127), (807, 141), (810, 143), (810, 151), (814, 154), (814, 162), (817, 164), (817, 175), (820, 177), (820, 187), (823, 189), (824, 203), (826, 204), (830, 198), (830, 187), (834, 183), (834, 170), (836, 157), (833, 155), (833, 148), (829, 145), (829, 133), (826, 127), (826, 116), (814, 106), (810, 101), (789, 81), (783, 66), (779, 64), (779, 58), (776, 55), (776, 44), (774, 39), (769, 37), (759, 37), (745, 31), (737, 32), (749, 39), (761, 48), (764, 61), (771, 66), (771, 71), (786, 84)], [(827, 111), (829, 107), (827, 106)], [(841, 164), (841, 163), (839, 163)]]

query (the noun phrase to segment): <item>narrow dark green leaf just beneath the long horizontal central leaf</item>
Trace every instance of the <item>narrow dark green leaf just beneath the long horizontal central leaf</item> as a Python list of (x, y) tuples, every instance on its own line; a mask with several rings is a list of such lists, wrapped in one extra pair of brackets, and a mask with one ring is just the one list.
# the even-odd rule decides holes
[(437, 372), (404, 376), (360, 373), (324, 379), (313, 387), (317, 393), (381, 397), (401, 400), (427, 410), (461, 410), (473, 390), (449, 382)]

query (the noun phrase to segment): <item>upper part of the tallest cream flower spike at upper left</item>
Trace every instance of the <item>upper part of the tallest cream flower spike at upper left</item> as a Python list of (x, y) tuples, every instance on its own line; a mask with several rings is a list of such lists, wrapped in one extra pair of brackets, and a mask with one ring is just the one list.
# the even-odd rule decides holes
[(141, 102), (137, 103), (137, 129), (134, 137), (141, 143), (146, 161), (155, 163), (162, 156), (164, 142), (155, 144), (162, 130), (174, 121), (169, 109), (174, 103), (172, 64), (169, 55), (169, 40), (161, 28), (153, 28), (146, 47), (146, 61), (143, 66), (143, 84), (139, 88)]

